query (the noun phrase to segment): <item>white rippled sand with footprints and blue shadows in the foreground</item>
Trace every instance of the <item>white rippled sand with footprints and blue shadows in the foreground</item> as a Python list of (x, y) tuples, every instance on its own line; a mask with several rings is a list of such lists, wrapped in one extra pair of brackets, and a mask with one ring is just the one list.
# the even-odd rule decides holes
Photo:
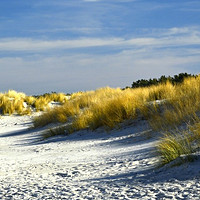
[(0, 118), (0, 199), (200, 199), (200, 162), (155, 169), (144, 121), (37, 142), (31, 117)]

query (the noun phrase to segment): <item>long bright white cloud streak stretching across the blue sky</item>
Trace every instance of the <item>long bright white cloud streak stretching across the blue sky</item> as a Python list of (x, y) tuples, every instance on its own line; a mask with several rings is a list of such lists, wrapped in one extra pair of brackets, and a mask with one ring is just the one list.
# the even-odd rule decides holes
[[(160, 32), (159, 32), (160, 33)], [(154, 37), (133, 38), (80, 38), (73, 40), (36, 40), (29, 38), (0, 39), (1, 51), (48, 51), (54, 49), (79, 49), (88, 47), (116, 48), (167, 48), (174, 46), (200, 45), (200, 31), (183, 27), (165, 30)]]

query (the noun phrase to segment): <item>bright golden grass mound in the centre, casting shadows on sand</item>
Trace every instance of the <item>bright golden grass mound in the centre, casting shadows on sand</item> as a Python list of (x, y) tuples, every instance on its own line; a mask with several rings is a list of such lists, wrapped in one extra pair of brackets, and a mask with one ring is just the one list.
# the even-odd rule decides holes
[[(55, 113), (68, 110), (68, 117), (73, 116), (72, 129), (74, 130), (96, 129), (101, 126), (113, 128), (125, 119), (136, 117), (136, 109), (139, 109), (147, 100), (148, 93), (146, 92), (145, 95), (145, 91), (144, 89), (142, 95), (139, 89), (122, 91), (119, 88), (106, 87), (96, 91), (78, 93), (78, 95), (72, 95), (68, 104), (63, 105), (59, 110), (54, 109), (52, 112), (55, 116)], [(66, 108), (66, 105), (70, 105), (70, 107)], [(48, 114), (50, 113), (48, 112)], [(46, 115), (41, 116), (41, 119), (47, 119)]]

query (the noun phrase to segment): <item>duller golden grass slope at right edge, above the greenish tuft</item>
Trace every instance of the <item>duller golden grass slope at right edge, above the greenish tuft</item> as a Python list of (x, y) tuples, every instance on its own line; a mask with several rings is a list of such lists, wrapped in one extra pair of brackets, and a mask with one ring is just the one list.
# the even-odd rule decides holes
[(173, 93), (161, 105), (160, 112), (153, 112), (150, 124), (155, 130), (176, 127), (197, 119), (200, 111), (200, 76), (188, 78), (182, 84), (174, 86)]

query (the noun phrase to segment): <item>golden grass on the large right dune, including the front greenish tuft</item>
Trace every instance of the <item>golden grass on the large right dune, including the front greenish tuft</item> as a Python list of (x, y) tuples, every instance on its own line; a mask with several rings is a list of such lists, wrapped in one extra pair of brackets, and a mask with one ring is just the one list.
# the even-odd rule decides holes
[[(121, 90), (107, 87), (79, 92), (72, 95), (68, 104), (68, 108), (64, 104), (58, 110), (54, 109), (40, 116), (41, 122), (46, 122), (39, 122), (39, 125), (48, 124), (47, 115), (52, 113), (54, 120), (49, 123), (70, 122), (60, 129), (47, 131), (44, 137), (70, 134), (81, 129), (95, 130), (99, 127), (109, 130), (119, 126), (124, 120), (143, 116), (154, 130), (168, 131), (157, 146), (162, 164), (181, 155), (190, 155), (195, 151), (194, 141), (200, 140), (200, 126), (197, 124), (200, 111), (200, 76), (187, 78), (177, 85), (167, 82), (146, 88)], [(75, 112), (70, 113), (68, 109)], [(58, 113), (60, 119), (55, 117)], [(195, 130), (192, 132), (194, 123)], [(190, 131), (170, 133), (183, 124), (191, 124)], [(197, 146), (200, 146), (200, 142)]]

